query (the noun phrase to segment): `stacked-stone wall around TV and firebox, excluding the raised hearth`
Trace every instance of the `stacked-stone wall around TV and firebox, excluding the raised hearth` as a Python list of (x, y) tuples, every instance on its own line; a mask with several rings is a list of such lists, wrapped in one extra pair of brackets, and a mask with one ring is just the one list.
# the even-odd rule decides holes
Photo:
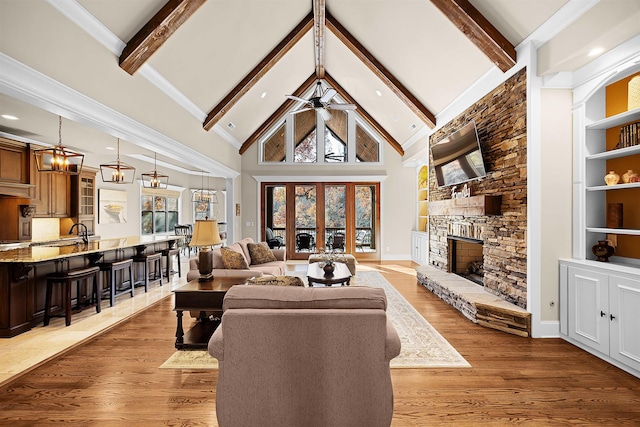
[[(485, 290), (523, 308), (527, 304), (526, 93), (526, 70), (522, 69), (429, 141), (432, 146), (475, 120), (487, 176), (468, 186), (472, 195), (502, 196), (501, 215), (430, 216), (430, 263), (447, 271), (447, 226), (452, 221), (471, 222), (480, 228), (484, 242)], [(430, 172), (430, 200), (451, 198), (451, 187), (438, 189), (433, 168)]]

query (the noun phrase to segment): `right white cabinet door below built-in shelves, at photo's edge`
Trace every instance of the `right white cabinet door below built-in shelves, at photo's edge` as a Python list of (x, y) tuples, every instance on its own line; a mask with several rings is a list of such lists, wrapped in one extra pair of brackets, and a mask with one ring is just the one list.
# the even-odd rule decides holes
[(640, 280), (609, 276), (612, 358), (640, 371)]

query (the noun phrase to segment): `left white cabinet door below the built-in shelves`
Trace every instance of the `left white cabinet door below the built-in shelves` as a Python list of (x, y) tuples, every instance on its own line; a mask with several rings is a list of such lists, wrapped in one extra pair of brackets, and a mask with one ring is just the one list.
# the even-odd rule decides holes
[(609, 354), (609, 277), (569, 267), (569, 336)]

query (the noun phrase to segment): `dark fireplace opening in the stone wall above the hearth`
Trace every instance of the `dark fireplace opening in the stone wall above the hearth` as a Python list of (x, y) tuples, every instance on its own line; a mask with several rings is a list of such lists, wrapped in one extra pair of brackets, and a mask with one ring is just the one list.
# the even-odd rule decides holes
[(484, 286), (482, 240), (447, 236), (449, 272)]

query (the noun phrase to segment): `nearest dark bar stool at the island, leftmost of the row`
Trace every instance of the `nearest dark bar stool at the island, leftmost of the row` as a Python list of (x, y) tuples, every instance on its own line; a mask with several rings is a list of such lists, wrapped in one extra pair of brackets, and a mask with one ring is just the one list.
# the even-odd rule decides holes
[[(65, 325), (71, 324), (71, 284), (76, 283), (76, 306), (78, 311), (82, 311), (81, 305), (81, 286), (83, 280), (93, 278), (93, 290), (91, 303), (95, 301), (96, 313), (100, 313), (100, 267), (90, 266), (84, 268), (78, 268), (68, 271), (57, 271), (55, 273), (47, 274), (47, 293), (45, 297), (44, 305), (44, 326), (49, 324), (49, 320), (52, 317), (64, 317)], [(53, 294), (53, 285), (60, 283), (63, 285), (62, 304), (64, 305), (64, 315), (52, 315), (51, 314), (51, 296)]]

